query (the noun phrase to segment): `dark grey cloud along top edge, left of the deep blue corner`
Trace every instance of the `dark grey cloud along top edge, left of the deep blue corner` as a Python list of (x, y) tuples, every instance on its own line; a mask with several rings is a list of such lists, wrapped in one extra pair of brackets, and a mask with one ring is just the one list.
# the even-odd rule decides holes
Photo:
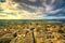
[(36, 0), (36, 2), (29, 1), (29, 0), (13, 0), (14, 2), (17, 3), (26, 3), (28, 5), (36, 5), (36, 6), (40, 6), (41, 5), (41, 0)]

